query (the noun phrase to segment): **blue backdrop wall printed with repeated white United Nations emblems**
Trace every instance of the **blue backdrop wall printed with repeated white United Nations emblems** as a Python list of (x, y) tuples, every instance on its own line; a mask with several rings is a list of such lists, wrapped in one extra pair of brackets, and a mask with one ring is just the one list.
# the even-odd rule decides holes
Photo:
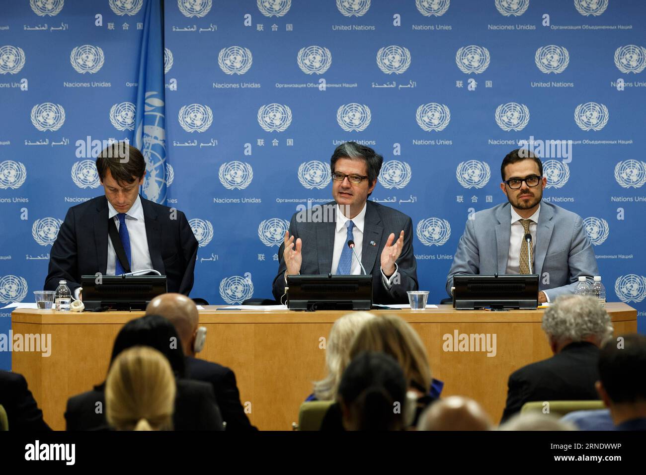
[(165, 185), (191, 220), (193, 297), (269, 297), (287, 220), (330, 199), (329, 156), (357, 140), (384, 155), (370, 199), (412, 217), (437, 302), (466, 220), (505, 200), (499, 165), (526, 145), (545, 162), (545, 200), (586, 219), (607, 299), (638, 308), (646, 332), (643, 2), (167, 0), (152, 96), (140, 63), (154, 70), (162, 32), (148, 8), (3, 5), (1, 303), (33, 301), (68, 207), (102, 193), (96, 152), (136, 142), (143, 107), (165, 120), (143, 119), (143, 193), (161, 200)]

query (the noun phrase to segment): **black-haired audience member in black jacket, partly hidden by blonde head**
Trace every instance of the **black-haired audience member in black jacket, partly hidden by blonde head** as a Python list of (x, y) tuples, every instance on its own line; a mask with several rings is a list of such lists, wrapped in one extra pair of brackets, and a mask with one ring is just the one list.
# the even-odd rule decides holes
[[(110, 365), (118, 354), (132, 346), (151, 346), (165, 355), (171, 363), (177, 378), (173, 415), (175, 430), (223, 430), (222, 416), (211, 385), (183, 379), (184, 354), (171, 322), (159, 315), (146, 315), (125, 324), (114, 341)], [(104, 385), (105, 383), (95, 386), (92, 391), (68, 399), (65, 411), (67, 430), (109, 428), (105, 418)]]

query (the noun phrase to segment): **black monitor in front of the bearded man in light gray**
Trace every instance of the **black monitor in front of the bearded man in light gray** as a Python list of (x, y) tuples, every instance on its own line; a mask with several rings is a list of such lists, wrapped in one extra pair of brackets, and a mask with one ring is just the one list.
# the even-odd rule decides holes
[(538, 306), (537, 274), (525, 275), (455, 275), (453, 307), (474, 310), (489, 307), (536, 309)]

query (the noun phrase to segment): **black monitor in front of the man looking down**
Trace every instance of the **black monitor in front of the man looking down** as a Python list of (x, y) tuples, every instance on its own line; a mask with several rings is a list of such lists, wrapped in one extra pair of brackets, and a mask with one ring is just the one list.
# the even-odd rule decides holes
[(166, 293), (165, 275), (83, 275), (85, 310), (145, 310), (154, 297)]

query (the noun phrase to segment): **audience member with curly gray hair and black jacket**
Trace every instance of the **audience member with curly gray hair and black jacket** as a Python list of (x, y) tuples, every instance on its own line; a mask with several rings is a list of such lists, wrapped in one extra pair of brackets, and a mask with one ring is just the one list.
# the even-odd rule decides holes
[(597, 400), (599, 346), (612, 335), (610, 317), (594, 297), (563, 295), (543, 314), (554, 356), (510, 375), (502, 422), (531, 401)]

